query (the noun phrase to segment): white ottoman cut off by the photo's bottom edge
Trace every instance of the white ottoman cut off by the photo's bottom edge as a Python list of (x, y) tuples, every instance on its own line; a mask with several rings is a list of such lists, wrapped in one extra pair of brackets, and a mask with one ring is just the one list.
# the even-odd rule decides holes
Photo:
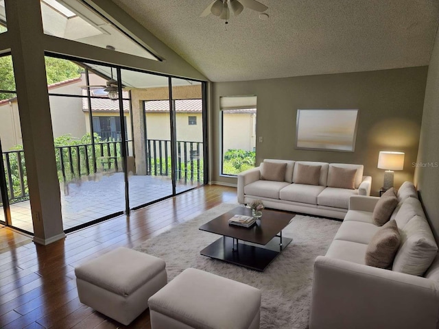
[(199, 269), (185, 269), (150, 297), (152, 329), (259, 328), (261, 291)]

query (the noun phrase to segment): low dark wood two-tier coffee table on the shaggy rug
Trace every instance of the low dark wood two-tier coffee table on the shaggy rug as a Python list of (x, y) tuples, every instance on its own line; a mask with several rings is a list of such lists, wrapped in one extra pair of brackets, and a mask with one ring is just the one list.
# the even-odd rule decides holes
[(294, 213), (264, 209), (261, 219), (251, 228), (229, 225), (227, 221), (234, 215), (251, 216), (252, 210), (237, 207), (200, 226), (200, 230), (222, 235), (200, 254), (263, 271), (292, 241), (282, 236), (282, 230)]

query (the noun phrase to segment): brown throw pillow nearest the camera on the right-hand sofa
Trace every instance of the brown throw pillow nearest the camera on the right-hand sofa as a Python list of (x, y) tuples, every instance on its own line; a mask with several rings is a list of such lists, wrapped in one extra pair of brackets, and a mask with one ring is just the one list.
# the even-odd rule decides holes
[(388, 221), (370, 239), (366, 249), (366, 265), (387, 269), (392, 265), (400, 243), (396, 221)]

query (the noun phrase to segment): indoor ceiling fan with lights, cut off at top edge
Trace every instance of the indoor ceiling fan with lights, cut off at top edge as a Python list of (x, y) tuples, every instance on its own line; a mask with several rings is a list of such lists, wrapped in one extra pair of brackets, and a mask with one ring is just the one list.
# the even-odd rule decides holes
[(200, 17), (208, 16), (213, 14), (218, 16), (220, 19), (230, 18), (230, 9), (235, 16), (241, 14), (244, 8), (255, 10), (257, 12), (265, 12), (268, 10), (266, 5), (263, 5), (256, 0), (214, 0), (207, 8), (202, 12)]

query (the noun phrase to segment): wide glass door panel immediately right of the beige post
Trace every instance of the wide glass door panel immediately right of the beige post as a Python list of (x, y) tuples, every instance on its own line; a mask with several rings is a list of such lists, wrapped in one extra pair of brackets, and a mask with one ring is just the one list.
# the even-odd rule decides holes
[[(46, 64), (47, 72), (58, 69), (57, 75), (67, 79), (49, 86), (49, 102), (62, 223), (69, 232), (125, 210), (119, 101), (104, 91), (111, 74), (117, 80), (117, 73), (102, 66), (97, 74), (59, 58)], [(62, 71), (66, 67), (79, 77), (72, 80)]]

